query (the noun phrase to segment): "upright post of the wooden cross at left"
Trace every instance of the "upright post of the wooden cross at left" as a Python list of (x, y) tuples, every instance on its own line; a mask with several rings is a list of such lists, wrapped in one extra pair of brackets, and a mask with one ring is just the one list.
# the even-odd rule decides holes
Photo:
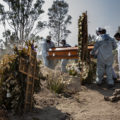
[[(36, 52), (29, 50), (29, 61), (27, 73), (27, 85), (26, 85), (26, 95), (25, 95), (25, 112), (31, 111), (33, 107), (33, 93), (34, 93), (34, 80), (36, 72)], [(30, 103), (29, 105), (27, 103)]]

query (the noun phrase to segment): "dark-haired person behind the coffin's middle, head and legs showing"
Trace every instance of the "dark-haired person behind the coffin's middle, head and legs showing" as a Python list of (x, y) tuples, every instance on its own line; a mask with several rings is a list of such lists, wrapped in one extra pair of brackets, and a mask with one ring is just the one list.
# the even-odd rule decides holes
[[(71, 47), (69, 44), (66, 43), (66, 40), (62, 40), (61, 44), (62, 44), (62, 47)], [(66, 70), (67, 63), (68, 63), (67, 59), (62, 59), (61, 60), (61, 72), (62, 73), (67, 72), (67, 70)]]

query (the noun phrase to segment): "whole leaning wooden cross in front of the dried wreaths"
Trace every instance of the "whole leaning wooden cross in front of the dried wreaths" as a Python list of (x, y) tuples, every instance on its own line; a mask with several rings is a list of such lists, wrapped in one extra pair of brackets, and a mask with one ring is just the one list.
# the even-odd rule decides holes
[[(31, 48), (27, 50), (28, 60), (24, 58), (20, 58), (19, 61), (19, 71), (27, 76), (26, 81), (26, 91), (25, 91), (25, 104), (24, 111), (28, 112), (32, 110), (33, 107), (33, 93), (34, 93), (34, 81), (39, 80), (39, 78), (35, 75), (36, 73), (36, 55), (37, 53), (33, 51)], [(28, 63), (29, 61), (29, 63)], [(4, 62), (4, 61), (3, 61)]]

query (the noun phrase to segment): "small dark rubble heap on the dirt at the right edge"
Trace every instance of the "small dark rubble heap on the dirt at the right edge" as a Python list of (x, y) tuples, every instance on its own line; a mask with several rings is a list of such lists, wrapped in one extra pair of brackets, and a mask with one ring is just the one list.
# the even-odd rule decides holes
[(120, 89), (115, 89), (113, 95), (108, 97), (104, 96), (105, 101), (117, 102), (120, 100)]

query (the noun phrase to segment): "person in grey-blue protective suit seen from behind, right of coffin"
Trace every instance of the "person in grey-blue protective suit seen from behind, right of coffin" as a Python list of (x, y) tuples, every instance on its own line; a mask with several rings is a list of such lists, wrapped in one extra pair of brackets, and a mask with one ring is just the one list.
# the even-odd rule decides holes
[(102, 84), (104, 73), (107, 75), (108, 87), (114, 86), (112, 76), (113, 65), (113, 53), (112, 50), (116, 49), (117, 45), (113, 38), (107, 34), (103, 34), (102, 30), (99, 31), (100, 35), (96, 39), (94, 49), (91, 51), (92, 55), (97, 52), (97, 71), (96, 71), (96, 83)]

